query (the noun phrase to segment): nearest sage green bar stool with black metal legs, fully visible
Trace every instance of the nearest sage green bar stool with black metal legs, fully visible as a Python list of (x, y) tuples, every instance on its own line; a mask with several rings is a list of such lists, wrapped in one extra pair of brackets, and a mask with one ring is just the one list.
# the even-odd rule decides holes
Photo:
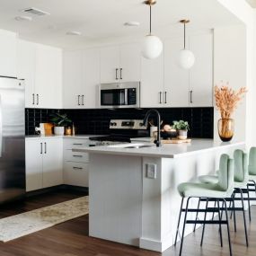
[[(185, 233), (185, 226), (186, 224), (203, 224), (202, 236), (201, 236), (201, 243), (203, 243), (203, 237), (205, 232), (205, 225), (206, 224), (215, 224), (219, 225), (219, 233), (220, 233), (220, 242), (221, 246), (223, 246), (222, 241), (222, 229), (221, 225), (226, 225), (227, 227), (227, 234), (228, 234), (228, 243), (229, 243), (229, 252), (232, 255), (232, 246), (230, 241), (230, 233), (229, 233), (229, 222), (228, 222), (228, 215), (227, 215), (227, 207), (225, 198), (230, 198), (233, 191), (234, 191), (234, 161), (233, 159), (229, 159), (227, 154), (222, 154), (220, 157), (219, 163), (219, 175), (218, 181), (216, 183), (199, 183), (199, 182), (184, 182), (178, 186), (178, 191), (181, 195), (181, 209), (178, 219), (177, 231), (175, 236), (174, 246), (176, 246), (177, 238), (179, 234), (180, 222), (181, 222), (181, 213), (185, 212), (184, 219), (183, 219), (183, 227), (182, 227), (182, 234), (181, 234), (181, 247), (180, 247), (180, 256), (182, 252), (183, 246), (183, 239)], [(187, 198), (186, 207), (183, 208), (183, 201)], [(206, 207), (205, 208), (190, 208), (189, 203), (190, 199), (192, 198), (199, 198), (199, 199), (206, 199)], [(208, 201), (213, 199), (217, 203), (217, 207), (211, 207), (210, 209), (207, 207)], [(225, 220), (222, 219), (221, 216), (221, 207), (220, 201), (223, 202), (225, 208)], [(204, 213), (204, 220), (199, 219), (192, 219), (188, 220), (188, 212), (203, 212)], [(217, 212), (218, 213), (218, 220), (207, 220), (207, 213), (208, 212)]]

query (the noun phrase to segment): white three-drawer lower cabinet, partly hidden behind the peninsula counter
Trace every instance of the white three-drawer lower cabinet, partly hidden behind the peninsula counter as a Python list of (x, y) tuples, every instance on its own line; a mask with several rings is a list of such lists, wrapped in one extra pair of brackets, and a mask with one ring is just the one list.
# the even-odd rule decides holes
[(73, 152), (74, 147), (89, 146), (86, 138), (64, 139), (64, 184), (88, 187), (89, 185), (89, 154)]

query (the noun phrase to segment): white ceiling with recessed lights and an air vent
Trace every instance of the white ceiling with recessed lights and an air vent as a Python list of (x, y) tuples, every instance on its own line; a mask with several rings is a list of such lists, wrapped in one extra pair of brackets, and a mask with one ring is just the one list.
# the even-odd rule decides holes
[[(249, 0), (248, 0), (249, 1)], [(148, 31), (148, 6), (143, 0), (0, 0), (0, 29), (15, 31), (22, 39), (64, 49), (84, 48), (108, 40), (142, 39)], [(50, 13), (32, 22), (17, 22), (22, 9), (39, 8)], [(28, 14), (25, 14), (28, 15)], [(211, 29), (239, 22), (216, 0), (158, 0), (153, 7), (153, 31), (181, 32), (182, 18), (190, 18), (190, 30)], [(124, 22), (140, 22), (125, 27)], [(81, 31), (82, 36), (67, 36)]]

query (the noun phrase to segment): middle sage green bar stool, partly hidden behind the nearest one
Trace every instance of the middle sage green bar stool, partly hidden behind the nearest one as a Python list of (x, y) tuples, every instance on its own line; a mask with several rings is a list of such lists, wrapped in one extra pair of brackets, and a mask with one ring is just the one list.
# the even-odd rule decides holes
[[(218, 176), (215, 175), (203, 175), (199, 176), (199, 181), (203, 183), (216, 183), (218, 181)], [(234, 150), (234, 192), (232, 193), (231, 198), (226, 198), (227, 201), (230, 201), (230, 206), (228, 210), (231, 210), (234, 213), (234, 231), (236, 232), (236, 220), (235, 220), (235, 211), (243, 211), (243, 225), (244, 225), (244, 234), (246, 246), (248, 246), (248, 235), (247, 235), (247, 225), (244, 209), (244, 199), (243, 193), (247, 194), (248, 206), (249, 206), (249, 218), (251, 220), (251, 208), (250, 208), (250, 194), (248, 190), (248, 157), (246, 153), (243, 153), (243, 150), (236, 149)], [(236, 194), (240, 194), (240, 197), (235, 197)], [(241, 200), (242, 207), (235, 207), (234, 201)], [(200, 200), (199, 200), (200, 201)], [(233, 207), (231, 207), (233, 203)], [(195, 228), (194, 228), (195, 230)]]

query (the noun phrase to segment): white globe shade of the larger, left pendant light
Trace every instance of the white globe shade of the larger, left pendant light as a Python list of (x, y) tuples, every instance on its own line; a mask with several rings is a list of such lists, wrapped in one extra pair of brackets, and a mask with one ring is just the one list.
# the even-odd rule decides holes
[(147, 35), (142, 44), (142, 56), (152, 59), (158, 57), (163, 50), (163, 42), (156, 36)]

